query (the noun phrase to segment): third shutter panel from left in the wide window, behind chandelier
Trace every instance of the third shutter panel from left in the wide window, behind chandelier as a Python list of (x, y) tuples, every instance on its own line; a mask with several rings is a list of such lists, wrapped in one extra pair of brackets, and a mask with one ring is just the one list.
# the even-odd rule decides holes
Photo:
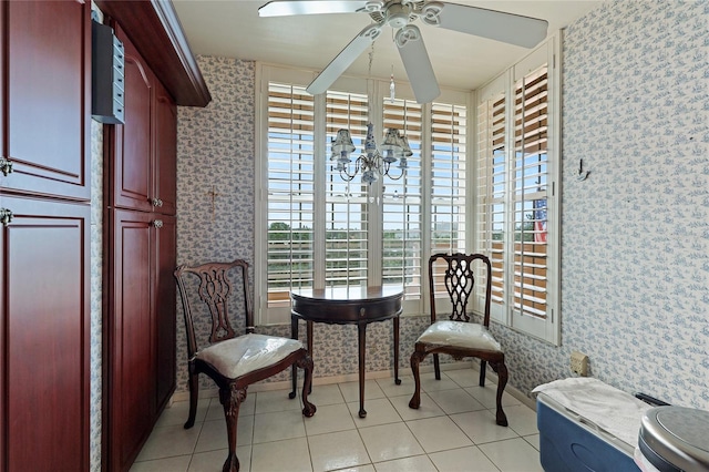
[(421, 142), (422, 105), (411, 100), (384, 100), (383, 129), (402, 131), (413, 155), (402, 175), (394, 163), (390, 173), (399, 179), (384, 179), (382, 198), (382, 281), (402, 284), (405, 299), (421, 298)]

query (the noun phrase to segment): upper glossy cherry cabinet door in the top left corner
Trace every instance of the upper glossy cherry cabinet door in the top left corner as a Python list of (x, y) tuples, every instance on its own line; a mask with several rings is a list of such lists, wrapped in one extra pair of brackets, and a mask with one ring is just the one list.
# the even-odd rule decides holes
[(91, 2), (2, 2), (2, 188), (91, 198)]

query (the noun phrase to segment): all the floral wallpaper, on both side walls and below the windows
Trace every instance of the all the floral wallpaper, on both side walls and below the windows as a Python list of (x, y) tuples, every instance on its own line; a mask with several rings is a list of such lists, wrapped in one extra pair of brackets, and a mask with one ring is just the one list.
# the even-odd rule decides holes
[[(563, 345), (493, 327), (517, 389), (569, 377), (571, 352), (580, 350), (592, 374), (615, 387), (709, 409), (708, 19), (706, 0), (621, 0), (567, 29)], [(253, 263), (254, 64), (198, 63), (214, 100), (179, 109), (178, 261)], [(575, 175), (580, 158), (590, 171), (584, 182)], [(369, 370), (391, 369), (389, 325), (368, 329)], [(404, 373), (407, 347), (424, 325), (402, 319)], [(289, 335), (287, 326), (257, 330)], [(315, 336), (317, 377), (357, 371), (353, 327), (318, 325)], [(178, 329), (178, 391), (186, 390), (185, 358)]]

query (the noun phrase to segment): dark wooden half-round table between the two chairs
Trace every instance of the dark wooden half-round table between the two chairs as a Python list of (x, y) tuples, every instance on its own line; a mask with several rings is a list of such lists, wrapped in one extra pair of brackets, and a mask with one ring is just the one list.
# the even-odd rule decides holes
[[(359, 334), (359, 417), (364, 418), (364, 351), (367, 325), (393, 319), (394, 327), (394, 382), (399, 379), (399, 315), (401, 315), (401, 286), (330, 287), (325, 289), (296, 289), (290, 293), (290, 328), (292, 339), (298, 339), (298, 320), (306, 321), (308, 352), (312, 357), (312, 324), (357, 325)], [(292, 368), (292, 392), (296, 396), (297, 369)]]

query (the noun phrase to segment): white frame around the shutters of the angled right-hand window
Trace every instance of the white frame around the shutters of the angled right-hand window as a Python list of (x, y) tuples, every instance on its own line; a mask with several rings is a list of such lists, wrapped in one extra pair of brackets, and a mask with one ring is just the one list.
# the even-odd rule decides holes
[[(547, 150), (546, 150), (546, 314), (544, 318), (523, 315), (514, 308), (514, 237), (515, 237), (515, 199), (514, 189), (514, 167), (510, 163), (516, 160), (516, 136), (515, 120), (516, 114), (516, 84), (518, 80), (537, 70), (544, 63), (547, 65)], [(514, 331), (532, 336), (536, 339), (549, 342), (554, 346), (561, 345), (561, 34), (549, 37), (544, 43), (525, 55), (517, 63), (505, 70), (499, 76), (490, 81), (476, 92), (475, 116), (480, 117), (480, 106), (490, 103), (494, 98), (504, 94), (504, 150), (505, 150), (505, 189), (500, 202), (504, 205), (505, 215), (505, 237), (503, 247), (503, 269), (502, 269), (502, 304), (493, 304), (491, 307), (491, 319), (511, 328)], [(513, 111), (513, 113), (510, 113)], [(482, 121), (482, 120), (481, 120)], [(485, 123), (490, 126), (490, 123)], [(479, 188), (483, 185), (491, 185), (492, 172), (491, 163), (481, 163), (481, 150), (486, 147), (483, 142), (490, 138), (491, 127), (481, 130), (476, 123), (475, 135), (477, 136), (475, 152), (475, 177)], [(490, 147), (490, 146), (487, 146)], [(486, 152), (491, 152), (490, 148)], [(490, 158), (490, 154), (487, 155)], [(490, 194), (486, 194), (490, 197)], [(485, 205), (480, 192), (475, 192), (475, 235), (476, 250), (487, 254), (487, 242), (493, 240), (492, 220), (490, 212), (481, 211)], [(487, 203), (491, 203), (490, 201)], [(480, 294), (479, 300), (480, 302)]]

